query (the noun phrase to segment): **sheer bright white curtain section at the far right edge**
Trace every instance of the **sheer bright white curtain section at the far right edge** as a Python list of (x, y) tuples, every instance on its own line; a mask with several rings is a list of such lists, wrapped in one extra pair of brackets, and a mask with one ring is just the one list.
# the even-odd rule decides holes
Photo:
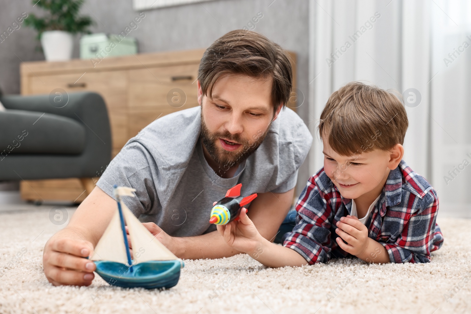
[(471, 217), (471, 3), (432, 4), (432, 182), (440, 211)]

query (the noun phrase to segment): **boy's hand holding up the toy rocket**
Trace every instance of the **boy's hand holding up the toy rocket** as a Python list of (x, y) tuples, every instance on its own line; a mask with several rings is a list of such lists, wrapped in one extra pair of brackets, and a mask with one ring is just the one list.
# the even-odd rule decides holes
[(246, 208), (241, 209), (238, 221), (233, 220), (227, 225), (216, 225), (216, 227), (227, 245), (249, 255), (260, 248), (261, 241), (264, 240), (247, 216)]

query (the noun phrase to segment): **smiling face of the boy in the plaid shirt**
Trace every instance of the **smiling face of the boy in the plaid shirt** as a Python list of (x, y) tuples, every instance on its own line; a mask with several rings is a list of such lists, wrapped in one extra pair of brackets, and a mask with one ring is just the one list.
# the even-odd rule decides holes
[[(337, 186), (343, 197), (357, 199), (372, 192), (375, 194), (372, 196), (376, 198), (378, 192), (381, 193), (390, 171), (390, 152), (374, 149), (370, 152), (358, 152), (353, 156), (343, 156), (333, 151), (325, 135), (322, 137), (322, 142), (325, 174)], [(393, 169), (396, 167), (397, 165)]]

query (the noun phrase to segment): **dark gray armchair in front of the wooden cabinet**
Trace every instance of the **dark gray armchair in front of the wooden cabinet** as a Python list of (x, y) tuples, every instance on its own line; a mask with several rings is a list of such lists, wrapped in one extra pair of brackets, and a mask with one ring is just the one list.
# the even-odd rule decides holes
[(49, 95), (1, 96), (0, 181), (96, 177), (111, 161), (103, 98), (71, 93), (57, 108)]

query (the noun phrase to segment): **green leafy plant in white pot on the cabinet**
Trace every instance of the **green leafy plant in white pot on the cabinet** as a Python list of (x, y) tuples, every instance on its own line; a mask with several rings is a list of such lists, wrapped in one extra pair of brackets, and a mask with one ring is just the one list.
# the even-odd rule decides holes
[(31, 13), (25, 25), (38, 32), (44, 56), (48, 61), (65, 61), (72, 58), (73, 35), (90, 33), (93, 24), (89, 16), (79, 16), (81, 0), (32, 0), (33, 4), (48, 11), (42, 17)]

